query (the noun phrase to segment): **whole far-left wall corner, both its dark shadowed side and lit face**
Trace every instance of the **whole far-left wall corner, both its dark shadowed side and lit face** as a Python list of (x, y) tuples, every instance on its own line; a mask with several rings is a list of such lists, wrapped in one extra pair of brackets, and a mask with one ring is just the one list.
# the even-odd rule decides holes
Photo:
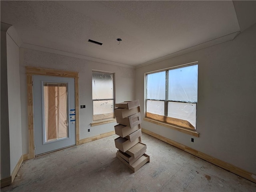
[(1, 23), (1, 179), (22, 156), (19, 48), (8, 34), (12, 30)]

